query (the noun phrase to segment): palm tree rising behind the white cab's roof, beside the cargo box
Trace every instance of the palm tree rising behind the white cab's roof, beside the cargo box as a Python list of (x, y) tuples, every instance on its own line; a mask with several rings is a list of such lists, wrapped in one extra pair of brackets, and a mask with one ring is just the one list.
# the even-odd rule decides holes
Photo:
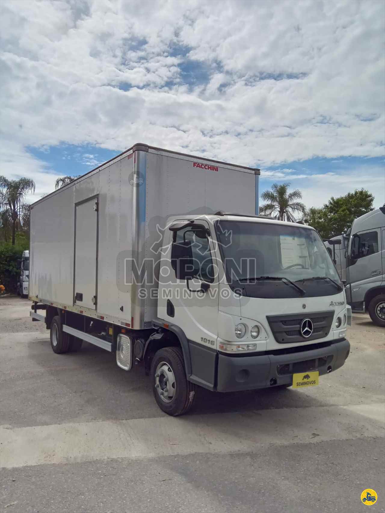
[(259, 208), (259, 213), (271, 215), (274, 219), (280, 221), (295, 221), (294, 214), (304, 214), (306, 209), (303, 203), (296, 200), (302, 200), (302, 193), (298, 189), (287, 192), (290, 184), (273, 184), (271, 191), (264, 191), (261, 194), (265, 203)]

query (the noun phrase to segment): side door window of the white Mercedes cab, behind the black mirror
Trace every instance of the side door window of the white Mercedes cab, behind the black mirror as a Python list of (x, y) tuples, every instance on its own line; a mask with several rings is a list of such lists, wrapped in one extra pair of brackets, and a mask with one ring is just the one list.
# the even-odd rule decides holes
[(179, 230), (174, 236), (173, 244), (190, 241), (194, 272), (198, 279), (213, 283), (214, 266), (211, 258), (210, 245), (205, 232), (192, 230), (191, 227)]

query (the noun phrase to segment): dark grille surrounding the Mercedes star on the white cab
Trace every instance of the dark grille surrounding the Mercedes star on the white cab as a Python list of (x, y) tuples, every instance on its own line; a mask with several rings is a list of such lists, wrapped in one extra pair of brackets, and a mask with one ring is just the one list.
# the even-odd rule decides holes
[[(308, 342), (328, 336), (332, 326), (334, 310), (328, 312), (298, 313), (289, 315), (267, 315), (268, 324), (279, 344)], [(302, 337), (301, 324), (304, 319), (313, 322), (313, 333)], [(299, 371), (301, 372), (301, 371)]]

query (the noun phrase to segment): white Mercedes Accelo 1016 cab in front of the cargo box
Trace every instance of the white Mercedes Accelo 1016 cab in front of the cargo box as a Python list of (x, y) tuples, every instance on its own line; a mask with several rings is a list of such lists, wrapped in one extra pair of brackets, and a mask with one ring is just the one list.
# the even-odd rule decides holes
[(183, 340), (191, 382), (221, 392), (286, 387), (296, 372), (343, 365), (351, 310), (313, 228), (222, 212), (176, 216), (168, 227), (155, 325)]

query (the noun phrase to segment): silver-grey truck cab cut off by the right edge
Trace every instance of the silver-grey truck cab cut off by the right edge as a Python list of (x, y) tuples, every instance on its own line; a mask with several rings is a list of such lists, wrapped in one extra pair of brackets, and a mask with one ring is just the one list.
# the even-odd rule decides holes
[(347, 301), (385, 327), (385, 206), (355, 219), (347, 246)]

